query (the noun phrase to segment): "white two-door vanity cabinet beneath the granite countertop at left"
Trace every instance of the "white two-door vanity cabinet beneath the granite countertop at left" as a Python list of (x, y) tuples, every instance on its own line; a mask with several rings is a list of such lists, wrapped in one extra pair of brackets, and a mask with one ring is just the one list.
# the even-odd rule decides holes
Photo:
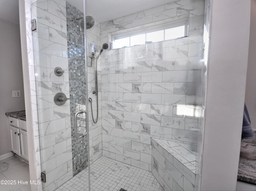
[(28, 161), (28, 141), (26, 132), (26, 121), (13, 117), (8, 117), (11, 150), (17, 156)]

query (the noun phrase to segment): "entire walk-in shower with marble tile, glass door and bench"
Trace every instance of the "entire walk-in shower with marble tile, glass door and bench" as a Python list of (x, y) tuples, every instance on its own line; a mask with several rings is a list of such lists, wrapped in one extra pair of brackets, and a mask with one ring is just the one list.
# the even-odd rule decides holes
[(38, 24), (26, 30), (38, 190), (197, 189), (204, 0), (142, 2), (37, 0), (26, 10)]

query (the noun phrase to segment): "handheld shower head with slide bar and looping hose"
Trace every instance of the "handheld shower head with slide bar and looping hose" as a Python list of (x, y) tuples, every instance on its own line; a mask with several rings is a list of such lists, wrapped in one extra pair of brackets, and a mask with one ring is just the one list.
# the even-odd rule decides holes
[[(96, 119), (94, 120), (93, 117), (93, 110), (92, 110), (92, 120), (94, 123), (97, 123), (98, 121), (98, 116), (99, 116), (99, 107), (98, 107), (98, 69), (97, 69), (97, 61), (101, 55), (101, 53), (103, 52), (103, 50), (108, 49), (108, 44), (104, 43), (102, 45), (102, 49), (100, 49), (100, 53), (98, 54), (98, 56), (96, 55), (96, 53), (92, 52), (92, 59), (94, 59), (94, 69), (95, 69), (95, 91), (93, 91), (92, 93), (96, 95), (96, 104), (97, 104), (97, 116)], [(91, 103), (91, 109), (92, 109), (92, 98), (89, 98), (88, 101)]]

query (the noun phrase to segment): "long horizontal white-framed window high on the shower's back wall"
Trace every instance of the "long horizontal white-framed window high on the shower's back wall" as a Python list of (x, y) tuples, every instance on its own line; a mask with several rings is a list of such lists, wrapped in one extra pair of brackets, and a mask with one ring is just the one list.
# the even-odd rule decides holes
[(142, 45), (188, 36), (188, 18), (169, 19), (164, 24), (154, 22), (141, 26), (109, 33), (111, 49)]

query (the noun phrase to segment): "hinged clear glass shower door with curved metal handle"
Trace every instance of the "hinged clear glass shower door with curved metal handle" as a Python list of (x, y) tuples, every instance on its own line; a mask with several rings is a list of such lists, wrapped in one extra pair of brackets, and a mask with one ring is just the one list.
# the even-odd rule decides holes
[(45, 191), (89, 190), (84, 4), (75, 3), (38, 0), (31, 6), (38, 168), (46, 178)]

